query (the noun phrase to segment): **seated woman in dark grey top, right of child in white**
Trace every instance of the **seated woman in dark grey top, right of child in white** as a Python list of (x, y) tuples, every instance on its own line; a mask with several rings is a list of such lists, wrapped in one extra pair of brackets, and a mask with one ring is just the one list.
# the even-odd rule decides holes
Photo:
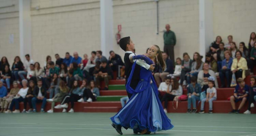
[[(181, 62), (180, 84), (187, 85), (186, 75), (191, 71), (193, 61), (190, 59), (187, 52), (183, 53), (183, 60)], [(184, 82), (183, 82), (184, 81)]]

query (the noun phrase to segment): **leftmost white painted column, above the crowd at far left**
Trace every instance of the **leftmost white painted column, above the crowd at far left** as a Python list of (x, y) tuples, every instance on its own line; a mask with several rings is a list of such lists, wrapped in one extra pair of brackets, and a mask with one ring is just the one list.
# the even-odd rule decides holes
[(31, 0), (19, 0), (19, 28), (20, 28), (20, 58), (25, 60), (25, 55), (31, 56)]

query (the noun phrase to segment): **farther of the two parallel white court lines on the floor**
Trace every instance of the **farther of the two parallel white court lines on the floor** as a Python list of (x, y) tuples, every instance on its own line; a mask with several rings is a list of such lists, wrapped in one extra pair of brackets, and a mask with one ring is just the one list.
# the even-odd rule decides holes
[[(66, 123), (0, 123), (0, 124), (38, 124), (38, 125), (99, 125), (99, 126), (108, 126), (110, 124), (66, 124)], [(232, 127), (232, 126), (174, 126), (174, 127), (193, 127), (193, 128), (256, 128), (256, 127)]]

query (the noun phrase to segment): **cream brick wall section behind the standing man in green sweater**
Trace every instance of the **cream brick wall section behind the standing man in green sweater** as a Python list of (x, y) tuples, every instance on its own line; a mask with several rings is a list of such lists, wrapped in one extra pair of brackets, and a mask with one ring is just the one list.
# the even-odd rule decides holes
[[(121, 24), (121, 36), (131, 36), (137, 54), (143, 54), (152, 44), (157, 44), (163, 50), (163, 33), (156, 34), (156, 2), (116, 0), (113, 5), (114, 32), (117, 33), (117, 25)], [(174, 48), (176, 58), (182, 58), (184, 52), (190, 55), (199, 52), (198, 6), (198, 0), (159, 1), (159, 30), (164, 30), (166, 24), (171, 25), (177, 38)], [(119, 47), (117, 44), (115, 46)], [(120, 48), (114, 48), (114, 51), (124, 55)]]

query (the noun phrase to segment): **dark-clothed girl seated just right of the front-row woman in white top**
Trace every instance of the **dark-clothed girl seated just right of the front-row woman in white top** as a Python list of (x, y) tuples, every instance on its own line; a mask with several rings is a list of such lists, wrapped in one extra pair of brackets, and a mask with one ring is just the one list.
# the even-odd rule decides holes
[[(23, 109), (23, 113), (27, 112), (27, 113), (30, 113), (33, 111), (33, 106), (32, 106), (32, 99), (34, 97), (33, 95), (33, 92), (34, 92), (34, 89), (36, 88), (36, 85), (35, 83), (31, 80), (28, 82), (28, 92), (26, 94), (26, 97), (24, 98), (24, 101), (23, 101), (23, 104), (24, 104), (24, 109)], [(26, 111), (27, 109), (27, 103), (30, 107), (30, 109), (28, 111)]]

